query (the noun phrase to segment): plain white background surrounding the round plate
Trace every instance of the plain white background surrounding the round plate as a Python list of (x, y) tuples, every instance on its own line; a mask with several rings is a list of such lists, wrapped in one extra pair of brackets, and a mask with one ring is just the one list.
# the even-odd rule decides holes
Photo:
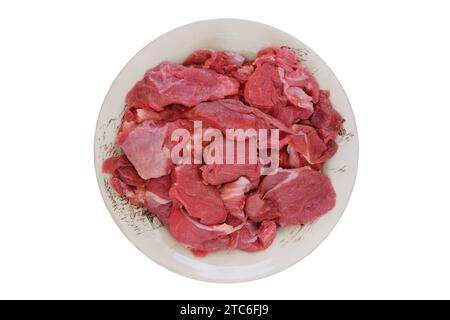
[[(0, 298), (450, 298), (448, 1), (3, 1)], [(190, 280), (129, 243), (103, 204), (103, 98), (148, 42), (244, 18), (304, 41), (353, 105), (349, 206), (305, 260), (242, 284)]]

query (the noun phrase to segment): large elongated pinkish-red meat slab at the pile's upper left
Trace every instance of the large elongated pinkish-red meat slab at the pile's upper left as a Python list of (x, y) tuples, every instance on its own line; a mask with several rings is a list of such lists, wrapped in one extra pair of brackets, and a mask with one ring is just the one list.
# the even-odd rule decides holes
[(161, 63), (147, 71), (126, 97), (130, 107), (162, 111), (170, 104), (193, 107), (237, 94), (239, 83), (209, 69)]

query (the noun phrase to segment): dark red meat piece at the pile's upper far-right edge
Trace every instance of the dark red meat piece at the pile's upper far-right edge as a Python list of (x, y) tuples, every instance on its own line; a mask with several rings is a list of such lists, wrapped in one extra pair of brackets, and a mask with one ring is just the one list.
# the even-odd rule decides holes
[(329, 91), (320, 91), (319, 102), (315, 105), (314, 113), (309, 119), (309, 123), (317, 129), (325, 143), (336, 139), (344, 122), (341, 115), (331, 105), (329, 97)]

